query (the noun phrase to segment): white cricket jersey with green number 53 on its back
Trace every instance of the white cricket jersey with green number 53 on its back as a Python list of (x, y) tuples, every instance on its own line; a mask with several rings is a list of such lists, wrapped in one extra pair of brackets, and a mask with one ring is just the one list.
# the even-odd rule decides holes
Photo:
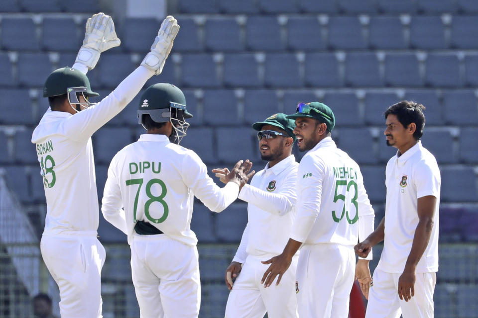
[(331, 137), (300, 161), (296, 210), (291, 238), (305, 244), (354, 246), (373, 231), (375, 216), (359, 165)]

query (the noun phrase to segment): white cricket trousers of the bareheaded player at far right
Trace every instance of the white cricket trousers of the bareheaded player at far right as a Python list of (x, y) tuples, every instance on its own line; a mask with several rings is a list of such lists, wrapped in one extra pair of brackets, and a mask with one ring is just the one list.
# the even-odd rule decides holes
[(373, 285), (368, 291), (365, 318), (433, 318), (433, 291), (437, 275), (416, 273), (415, 296), (408, 302), (398, 297), (401, 274), (387, 273), (379, 268), (373, 272)]

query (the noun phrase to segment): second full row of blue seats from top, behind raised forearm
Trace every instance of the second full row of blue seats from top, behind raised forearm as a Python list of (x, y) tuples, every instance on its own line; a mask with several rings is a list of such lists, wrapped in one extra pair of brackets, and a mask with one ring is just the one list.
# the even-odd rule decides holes
[[(265, 59), (263, 64), (258, 62), (262, 56)], [(424, 74), (421, 74), (421, 63), (414, 53), (388, 53), (383, 63), (373, 52), (348, 53), (343, 75), (340, 71), (342, 63), (334, 53), (308, 53), (303, 63), (295, 53), (226, 54), (221, 69), (210, 54), (184, 54), (180, 57), (181, 62), (177, 64), (169, 59), (163, 73), (151, 78), (147, 84), (162, 81), (197, 88), (461, 88), (478, 85), (476, 53), (467, 54), (463, 62), (456, 53), (428, 54)], [(58, 63), (52, 63), (48, 53), (20, 53), (14, 76), (8, 55), (0, 53), (0, 71), (4, 74), (0, 87), (41, 87), (52, 70), (72, 66), (74, 61), (74, 54), (61, 55)], [(93, 88), (114, 88), (136, 66), (129, 54), (106, 53), (88, 77)]]

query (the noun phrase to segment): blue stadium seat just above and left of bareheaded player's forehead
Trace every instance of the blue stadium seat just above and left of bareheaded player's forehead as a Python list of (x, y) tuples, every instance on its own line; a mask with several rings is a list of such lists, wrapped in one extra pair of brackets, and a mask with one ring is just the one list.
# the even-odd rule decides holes
[(380, 126), (385, 129), (384, 113), (388, 107), (400, 99), (394, 92), (369, 91), (365, 94), (365, 124)]

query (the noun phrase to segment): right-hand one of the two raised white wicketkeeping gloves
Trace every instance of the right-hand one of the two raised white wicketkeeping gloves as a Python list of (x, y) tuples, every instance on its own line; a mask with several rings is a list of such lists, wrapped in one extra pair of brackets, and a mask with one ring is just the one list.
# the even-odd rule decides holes
[(173, 41), (179, 31), (178, 21), (171, 15), (168, 15), (161, 23), (158, 36), (151, 45), (151, 52), (141, 62), (141, 65), (154, 71), (155, 75), (161, 74), (164, 62), (171, 52)]

